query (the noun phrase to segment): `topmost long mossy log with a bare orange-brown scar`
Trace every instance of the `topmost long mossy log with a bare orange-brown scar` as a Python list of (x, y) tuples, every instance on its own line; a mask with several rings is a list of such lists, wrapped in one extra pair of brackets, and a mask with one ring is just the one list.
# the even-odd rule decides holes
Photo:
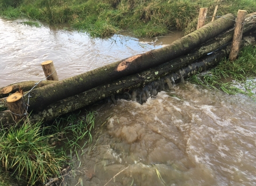
[(191, 49), (194, 49), (198, 45), (233, 26), (234, 21), (230, 20), (233, 18), (233, 14), (227, 14), (225, 16), (229, 19), (220, 18), (206, 24), (201, 29), (174, 41), (173, 44), (169, 46), (151, 50), (150, 52), (135, 55), (98, 69), (76, 75), (75, 77), (54, 83), (54, 86), (53, 84), (49, 84), (34, 89), (30, 93), (32, 97), (29, 102), (29, 112), (32, 110), (42, 111), (47, 105), (57, 102), (58, 100), (77, 95), (100, 84), (147, 70), (150, 67), (155, 67), (184, 55)]

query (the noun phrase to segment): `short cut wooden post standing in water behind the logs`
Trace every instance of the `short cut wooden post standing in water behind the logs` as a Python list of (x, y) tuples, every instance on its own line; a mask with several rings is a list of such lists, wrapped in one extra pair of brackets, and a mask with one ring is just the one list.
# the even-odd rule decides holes
[(47, 80), (59, 81), (53, 61), (45, 61), (45, 62), (41, 63), (41, 65), (43, 67), (44, 75)]

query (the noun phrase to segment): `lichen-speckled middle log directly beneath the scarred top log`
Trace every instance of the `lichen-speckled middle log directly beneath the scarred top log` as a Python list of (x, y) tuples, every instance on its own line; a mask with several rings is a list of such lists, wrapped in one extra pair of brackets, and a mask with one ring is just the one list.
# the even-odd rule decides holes
[[(255, 44), (255, 32), (252, 36), (245, 36), (242, 40), (242, 47)], [(44, 111), (31, 115), (30, 121), (52, 120), (55, 117), (75, 111), (76, 109), (85, 107), (111, 95), (121, 94), (122, 92), (133, 88), (143, 87), (154, 80), (164, 77), (165, 75), (172, 74), (175, 80), (181, 78), (181, 76), (184, 78), (189, 77), (191, 74), (197, 73), (198, 71), (209, 69), (209, 67), (217, 64), (221, 58), (228, 56), (230, 45), (231, 44), (228, 44), (227, 46), (207, 55), (196, 63), (190, 64), (183, 69), (181, 69), (183, 65), (178, 60), (172, 60), (171, 62), (159, 65), (147, 71), (133, 74), (112, 83), (103, 84), (102, 86), (87, 90), (81, 94), (65, 98), (57, 103), (47, 106)], [(13, 122), (10, 113), (7, 111), (0, 112), (0, 119), (1, 118), (4, 124), (10, 124)]]

